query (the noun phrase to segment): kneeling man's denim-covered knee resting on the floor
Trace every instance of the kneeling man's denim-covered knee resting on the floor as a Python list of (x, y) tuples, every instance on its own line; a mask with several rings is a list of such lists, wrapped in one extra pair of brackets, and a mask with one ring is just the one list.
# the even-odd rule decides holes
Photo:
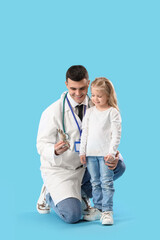
[(76, 223), (81, 219), (81, 202), (77, 198), (67, 198), (57, 204), (62, 219), (67, 223)]

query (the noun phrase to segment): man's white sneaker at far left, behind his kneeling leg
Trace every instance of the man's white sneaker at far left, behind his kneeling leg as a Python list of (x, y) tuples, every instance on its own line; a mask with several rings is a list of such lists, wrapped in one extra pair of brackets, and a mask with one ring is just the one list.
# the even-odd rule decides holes
[(50, 213), (51, 211), (50, 206), (46, 203), (46, 187), (44, 184), (37, 202), (37, 211), (40, 214)]

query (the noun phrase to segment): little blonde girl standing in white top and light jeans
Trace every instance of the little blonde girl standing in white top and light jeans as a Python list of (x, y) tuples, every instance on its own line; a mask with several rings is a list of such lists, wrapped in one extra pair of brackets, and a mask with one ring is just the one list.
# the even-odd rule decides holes
[(106, 162), (114, 160), (121, 138), (121, 116), (113, 84), (96, 78), (91, 84), (95, 106), (87, 109), (82, 123), (80, 160), (91, 175), (94, 208), (84, 219), (101, 219), (103, 225), (113, 224), (113, 171)]

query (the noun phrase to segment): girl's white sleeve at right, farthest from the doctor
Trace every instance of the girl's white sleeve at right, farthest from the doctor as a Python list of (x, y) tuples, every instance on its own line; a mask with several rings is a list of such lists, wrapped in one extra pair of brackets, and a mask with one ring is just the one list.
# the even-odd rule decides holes
[(110, 113), (110, 122), (111, 122), (111, 143), (109, 147), (109, 154), (115, 157), (118, 145), (121, 139), (121, 115), (116, 108)]

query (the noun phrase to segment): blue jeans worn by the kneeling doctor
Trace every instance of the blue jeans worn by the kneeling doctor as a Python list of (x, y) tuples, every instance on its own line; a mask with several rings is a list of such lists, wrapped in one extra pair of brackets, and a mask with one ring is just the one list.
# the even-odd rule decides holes
[[(123, 158), (120, 155), (120, 160), (118, 161), (117, 167), (113, 170), (114, 177), (113, 180), (118, 179), (123, 175), (125, 171), (125, 164), (121, 161)], [(90, 174), (86, 169), (83, 181), (82, 181), (82, 190), (85, 194), (91, 198), (92, 197), (92, 186), (90, 183)], [(53, 208), (56, 214), (67, 223), (75, 223), (81, 219), (82, 210), (81, 210), (81, 202), (77, 198), (66, 198), (63, 201), (59, 202), (57, 205), (54, 204), (50, 194), (48, 193), (46, 196), (47, 203)]]

